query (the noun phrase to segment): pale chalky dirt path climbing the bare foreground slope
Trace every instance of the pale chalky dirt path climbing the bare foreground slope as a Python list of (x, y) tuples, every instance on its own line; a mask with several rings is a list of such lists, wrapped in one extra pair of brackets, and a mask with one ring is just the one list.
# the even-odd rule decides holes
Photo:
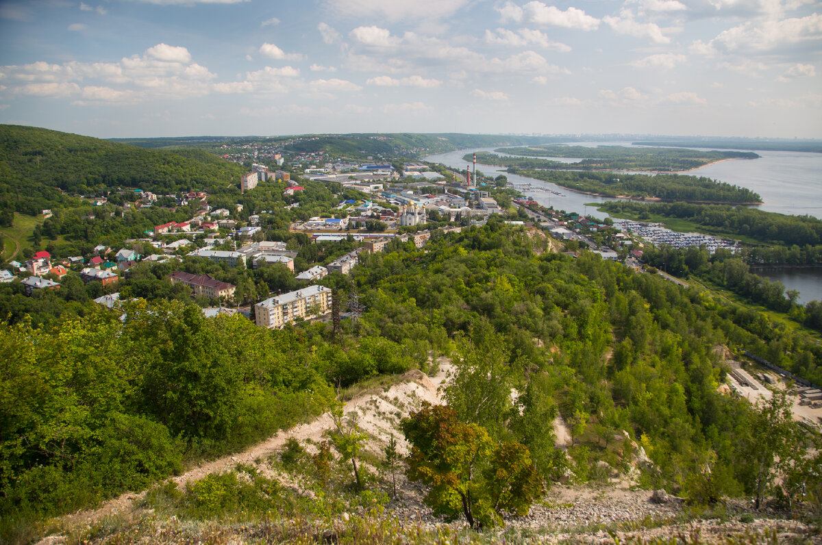
[[(407, 454), (408, 445), (404, 437), (397, 433), (399, 420), (418, 409), (423, 401), (432, 404), (442, 402), (440, 386), (446, 381), (451, 365), (446, 358), (440, 358), (438, 363), (439, 369), (434, 376), (427, 376), (419, 371), (409, 371), (404, 374), (402, 382), (391, 386), (388, 390), (365, 392), (345, 404), (344, 413), (356, 415), (359, 426), (372, 436), (372, 441), (369, 441), (367, 446), (369, 450), (381, 450), (390, 436), (394, 435), (397, 438), (399, 450)], [(278, 452), (289, 437), (295, 437), (302, 444), (310, 444), (312, 441), (319, 442), (326, 430), (330, 430), (331, 427), (331, 418), (326, 413), (310, 423), (301, 424), (288, 431), (270, 436), (266, 441), (251, 446), (247, 450), (198, 465), (169, 480), (180, 486), (186, 486), (188, 483), (195, 483), (204, 478), (209, 473), (220, 473), (232, 469), (237, 464), (256, 464), (256, 460), (266, 460), (268, 456)], [(145, 492), (125, 492), (106, 501), (97, 509), (77, 511), (72, 515), (55, 520), (55, 523), (62, 529), (71, 528), (77, 524), (95, 524), (108, 517), (127, 514), (135, 510), (143, 497), (145, 497)], [(47, 538), (40, 543), (53, 543), (53, 540)]]

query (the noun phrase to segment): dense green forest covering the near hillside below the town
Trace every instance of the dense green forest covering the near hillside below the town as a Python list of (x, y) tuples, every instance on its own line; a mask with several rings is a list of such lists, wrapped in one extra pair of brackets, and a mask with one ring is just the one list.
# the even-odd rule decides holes
[[(648, 487), (759, 500), (778, 474), (784, 497), (805, 483), (819, 501), (807, 439), (774, 445), (761, 430), (775, 417), (718, 390), (721, 347), (820, 381), (822, 349), (800, 330), (593, 253), (547, 252), (542, 233), (497, 219), (437, 232), (424, 251), (369, 254), (323, 283), (362, 304), (342, 337), (330, 324), (262, 330), (159, 299), (0, 327), (3, 519), (144, 487), (322, 410), (330, 385), (425, 368), (443, 353), (459, 369), (448, 398), (459, 420), (526, 447), (546, 482), (595, 479), (597, 460), (621, 467), (636, 441), (652, 461)], [(566, 452), (554, 446), (557, 413), (575, 438)], [(630, 441), (614, 439), (622, 430)]]

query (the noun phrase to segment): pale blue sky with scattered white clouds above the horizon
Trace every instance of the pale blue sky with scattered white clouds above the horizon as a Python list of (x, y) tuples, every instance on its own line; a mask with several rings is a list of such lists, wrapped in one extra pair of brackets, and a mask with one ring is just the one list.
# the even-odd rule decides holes
[(0, 122), (822, 137), (819, 0), (0, 0)]

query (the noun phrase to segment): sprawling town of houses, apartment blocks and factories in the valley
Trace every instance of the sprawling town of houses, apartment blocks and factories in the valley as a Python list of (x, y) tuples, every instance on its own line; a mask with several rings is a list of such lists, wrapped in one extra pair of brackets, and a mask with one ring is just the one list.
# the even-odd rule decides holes
[[(121, 194), (132, 192), (135, 199), (125, 201), (123, 210), (189, 203), (195, 203), (198, 210), (186, 221), (155, 225), (145, 231), (143, 238), (125, 240), (124, 247), (99, 244), (90, 255), (62, 259), (39, 251), (24, 262), (10, 261), (9, 269), (0, 271), (0, 282), (20, 281), (25, 294), (31, 296), (38, 290), (60, 289), (62, 279), (76, 275), (84, 284), (96, 283), (99, 289), (93, 293), (99, 293), (99, 297), (94, 299), (95, 303), (111, 308), (120, 305), (118, 280), (128, 278), (132, 267), (141, 262), (179, 265), (180, 259), (190, 256), (228, 269), (282, 266), (300, 287), (261, 298), (259, 302), (249, 301), (242, 294), (238, 297), (235, 285), (208, 274), (173, 270), (167, 277), (169, 284), (182, 284), (190, 289), (191, 297), (201, 304), (205, 316), (240, 313), (259, 326), (282, 328), (298, 321), (328, 319), (333, 307), (332, 290), (319, 282), (332, 273), (349, 275), (361, 262), (363, 253), (384, 252), (392, 242), (423, 248), (432, 231), (459, 232), (487, 223), (492, 215), (504, 218), (508, 224), (542, 229), (553, 238), (575, 241), (569, 255), (575, 256), (581, 243), (603, 259), (621, 260), (636, 270), (640, 270), (639, 260), (649, 243), (672, 247), (704, 245), (711, 252), (717, 247), (736, 249), (730, 242), (674, 233), (658, 224), (613, 224), (547, 209), (515, 189), (499, 191), (505, 187), (505, 181), (478, 177), (476, 164), (473, 172), (470, 165), (463, 172), (455, 172), (421, 162), (402, 164), (398, 170), (389, 163), (359, 163), (351, 159), (321, 163), (329, 158), (323, 154), (299, 154), (292, 159), (298, 165), (295, 172), (284, 169), (284, 156), (275, 151), (252, 147), (247, 154), (227, 156), (236, 160), (247, 159), (247, 155), (254, 159), (266, 157), (275, 165), (270, 170), (265, 164), (253, 163), (252, 169), (238, 181), (240, 192), (253, 192), (260, 184), (278, 183), (284, 185), (283, 195), (293, 200), (288, 207), (294, 208), (300, 205), (299, 196), (305, 190), (300, 183), (335, 183), (352, 190), (358, 199), (343, 199), (320, 216), (289, 224), (291, 232), (303, 233), (312, 244), (349, 242), (354, 246), (352, 250), (330, 261), (302, 261), (303, 267), (298, 268), (297, 250), (286, 242), (265, 239), (262, 224), (271, 210), (240, 215), (239, 204), (233, 208), (213, 208), (209, 196), (201, 191), (157, 195), (141, 189), (122, 190)], [(108, 198), (85, 197), (94, 207), (106, 206)], [(48, 218), (52, 211), (42, 210), (42, 214)], [(268, 289), (256, 291), (266, 293)]]

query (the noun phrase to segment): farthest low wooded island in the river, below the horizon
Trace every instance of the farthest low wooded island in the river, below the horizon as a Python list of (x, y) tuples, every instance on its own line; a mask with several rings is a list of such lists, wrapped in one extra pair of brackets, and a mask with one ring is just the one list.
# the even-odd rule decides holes
[[(573, 164), (575, 169), (601, 170), (653, 170), (677, 172), (697, 169), (705, 164), (723, 159), (757, 159), (760, 155), (742, 151), (700, 151), (681, 148), (631, 148), (624, 145), (533, 145), (529, 147), (498, 148), (502, 155), (526, 155), (528, 157), (567, 157), (580, 159)], [(485, 159), (490, 154), (483, 154)], [(509, 159), (509, 158), (506, 158)], [(520, 159), (520, 158), (510, 158)], [(493, 163), (487, 163), (493, 164)], [(523, 168), (562, 169), (568, 164), (559, 161), (545, 161), (538, 164), (511, 164)]]

